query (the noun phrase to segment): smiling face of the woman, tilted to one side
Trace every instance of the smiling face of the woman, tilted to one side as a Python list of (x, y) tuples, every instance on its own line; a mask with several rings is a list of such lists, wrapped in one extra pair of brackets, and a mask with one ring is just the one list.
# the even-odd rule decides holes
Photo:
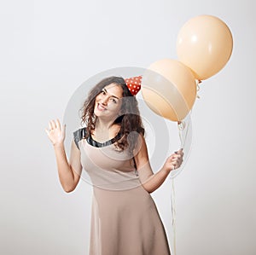
[(104, 87), (99, 95), (96, 96), (94, 113), (97, 117), (115, 119), (119, 115), (122, 105), (122, 88), (117, 84), (109, 84)]

